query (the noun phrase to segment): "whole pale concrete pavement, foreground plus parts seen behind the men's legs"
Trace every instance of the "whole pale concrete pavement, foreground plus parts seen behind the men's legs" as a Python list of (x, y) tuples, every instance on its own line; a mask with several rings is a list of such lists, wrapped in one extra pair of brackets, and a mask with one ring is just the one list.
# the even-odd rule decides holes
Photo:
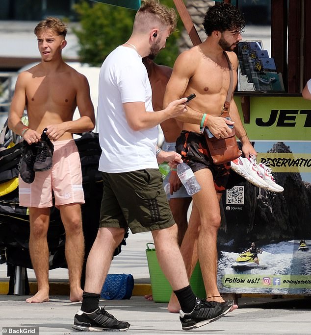
[[(146, 243), (152, 242), (150, 233), (130, 235), (122, 253), (116, 256), (109, 273), (131, 273), (135, 287), (130, 300), (101, 300), (101, 305), (120, 320), (129, 321), (127, 334), (185, 334), (181, 330), (178, 314), (169, 313), (166, 303), (147, 301), (144, 294), (151, 290)], [(32, 270), (27, 271), (31, 293), (35, 293), (36, 281)], [(0, 330), (1, 327), (38, 327), (40, 335), (78, 334), (71, 328), (80, 303), (68, 299), (67, 269), (50, 271), (50, 302), (27, 304), (26, 296), (6, 295), (6, 265), (0, 265)], [(2, 285), (2, 286), (1, 286)], [(2, 288), (1, 288), (2, 287)], [(275, 297), (274, 297), (275, 298)], [(242, 295), (238, 298), (239, 309), (191, 334), (218, 335), (269, 335), (311, 334), (311, 299)], [(0, 333), (1, 334), (1, 333)], [(4, 334), (2, 332), (2, 334)], [(7, 333), (9, 334), (9, 333)], [(12, 333), (13, 334), (13, 333)]]

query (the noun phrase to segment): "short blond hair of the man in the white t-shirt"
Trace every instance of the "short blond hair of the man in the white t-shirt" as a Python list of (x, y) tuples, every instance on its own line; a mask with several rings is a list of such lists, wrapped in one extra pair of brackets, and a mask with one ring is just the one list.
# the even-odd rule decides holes
[(146, 32), (159, 25), (161, 30), (169, 27), (171, 34), (176, 24), (177, 15), (173, 8), (161, 4), (158, 0), (145, 0), (136, 13), (133, 31)]

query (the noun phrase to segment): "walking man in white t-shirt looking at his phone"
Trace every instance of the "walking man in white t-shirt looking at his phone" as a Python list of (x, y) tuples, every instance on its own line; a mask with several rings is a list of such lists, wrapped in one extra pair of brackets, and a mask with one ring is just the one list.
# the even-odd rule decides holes
[(156, 126), (185, 113), (187, 99), (182, 97), (154, 112), (142, 57), (164, 48), (175, 27), (173, 9), (158, 0), (144, 1), (135, 16), (130, 39), (107, 56), (100, 72), (98, 121), (103, 152), (99, 170), (104, 195), (100, 228), (86, 265), (82, 306), (73, 325), (79, 331), (124, 331), (130, 327), (99, 307), (113, 251), (128, 227), (133, 234), (152, 232), (157, 259), (181, 305), (182, 329), (201, 327), (225, 315), (233, 305), (232, 301), (202, 301), (194, 295), (158, 170), (158, 163), (164, 161), (180, 163), (181, 155), (156, 147)]

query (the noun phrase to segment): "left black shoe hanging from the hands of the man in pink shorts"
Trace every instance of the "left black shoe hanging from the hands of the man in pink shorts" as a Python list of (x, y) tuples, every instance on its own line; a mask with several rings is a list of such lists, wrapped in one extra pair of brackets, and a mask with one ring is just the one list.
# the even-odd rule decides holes
[(28, 144), (25, 140), (23, 141), (23, 152), (18, 169), (21, 178), (27, 184), (31, 184), (34, 181), (35, 172), (33, 165), (36, 159), (36, 152), (36, 144)]

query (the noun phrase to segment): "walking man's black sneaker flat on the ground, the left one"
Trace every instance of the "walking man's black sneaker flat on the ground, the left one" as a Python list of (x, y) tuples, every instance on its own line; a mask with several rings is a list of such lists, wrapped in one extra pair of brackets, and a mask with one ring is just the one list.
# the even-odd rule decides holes
[(129, 322), (118, 321), (113, 315), (99, 307), (92, 313), (77, 311), (73, 329), (84, 332), (117, 332), (126, 331), (130, 328)]

